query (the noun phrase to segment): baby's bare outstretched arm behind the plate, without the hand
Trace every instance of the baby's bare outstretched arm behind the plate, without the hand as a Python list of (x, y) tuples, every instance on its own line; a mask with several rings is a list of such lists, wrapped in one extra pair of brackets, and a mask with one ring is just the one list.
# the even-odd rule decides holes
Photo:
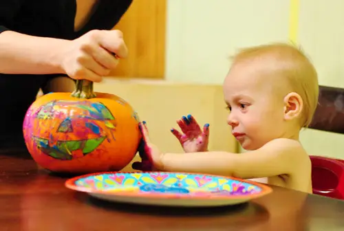
[(243, 179), (290, 174), (297, 163), (302, 147), (299, 142), (277, 139), (248, 153), (221, 151), (201, 153), (164, 153), (158, 168), (166, 171), (182, 171), (228, 175)]

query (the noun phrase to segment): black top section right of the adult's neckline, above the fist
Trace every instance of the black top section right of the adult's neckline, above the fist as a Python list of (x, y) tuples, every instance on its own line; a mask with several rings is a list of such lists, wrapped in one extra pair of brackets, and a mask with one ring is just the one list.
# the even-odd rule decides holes
[[(1, 0), (0, 0), (1, 1)], [(127, 12), (133, 0), (102, 0), (98, 5), (96, 14), (92, 16), (87, 26), (78, 32), (77, 37), (90, 30), (111, 30)]]

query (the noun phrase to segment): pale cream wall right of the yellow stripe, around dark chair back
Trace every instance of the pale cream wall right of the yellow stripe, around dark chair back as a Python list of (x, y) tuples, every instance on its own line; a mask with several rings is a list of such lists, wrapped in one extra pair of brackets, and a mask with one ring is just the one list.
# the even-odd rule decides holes
[[(312, 58), (321, 85), (344, 88), (343, 9), (341, 0), (300, 1), (298, 43)], [(301, 141), (309, 153), (344, 159), (344, 135), (308, 129)]]

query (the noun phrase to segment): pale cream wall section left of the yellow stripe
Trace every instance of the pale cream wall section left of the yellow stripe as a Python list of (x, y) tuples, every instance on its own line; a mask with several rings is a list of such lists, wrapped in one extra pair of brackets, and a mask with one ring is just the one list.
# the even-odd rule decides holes
[(288, 41), (289, 0), (167, 1), (167, 80), (222, 84), (239, 47)]

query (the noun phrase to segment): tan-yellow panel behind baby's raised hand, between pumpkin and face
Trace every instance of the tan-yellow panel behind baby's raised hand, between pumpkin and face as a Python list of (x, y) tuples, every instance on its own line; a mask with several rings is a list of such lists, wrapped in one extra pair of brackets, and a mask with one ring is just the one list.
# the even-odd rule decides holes
[[(191, 113), (201, 126), (211, 124), (211, 150), (237, 153), (237, 142), (226, 124), (228, 112), (224, 110), (221, 85), (105, 78), (95, 83), (94, 90), (116, 94), (129, 102), (140, 120), (147, 122), (150, 138), (161, 151), (182, 153), (170, 130), (174, 127), (180, 131), (176, 120)], [(130, 165), (125, 170), (131, 170)]]

